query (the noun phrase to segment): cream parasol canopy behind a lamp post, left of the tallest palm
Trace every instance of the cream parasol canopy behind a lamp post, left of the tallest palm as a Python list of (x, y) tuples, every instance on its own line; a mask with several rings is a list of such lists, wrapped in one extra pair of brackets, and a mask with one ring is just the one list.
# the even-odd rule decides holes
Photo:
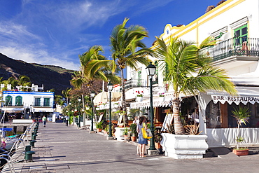
[[(111, 102), (116, 102), (120, 99), (120, 92), (111, 92)], [(109, 101), (109, 92), (100, 92), (94, 97), (94, 105), (105, 104)]]

